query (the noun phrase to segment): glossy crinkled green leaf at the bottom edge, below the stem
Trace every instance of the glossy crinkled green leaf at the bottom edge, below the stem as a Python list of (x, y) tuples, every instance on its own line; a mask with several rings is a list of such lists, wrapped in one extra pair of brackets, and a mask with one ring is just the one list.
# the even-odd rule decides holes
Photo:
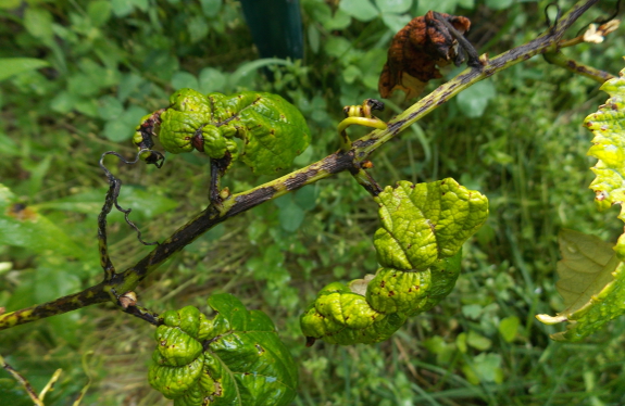
[(150, 384), (186, 406), (289, 404), (298, 372), (271, 319), (230, 294), (208, 302), (212, 320), (192, 306), (163, 314)]

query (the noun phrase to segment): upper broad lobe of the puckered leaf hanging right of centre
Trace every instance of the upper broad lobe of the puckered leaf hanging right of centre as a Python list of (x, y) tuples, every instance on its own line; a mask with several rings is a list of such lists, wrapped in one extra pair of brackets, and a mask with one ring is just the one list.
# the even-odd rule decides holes
[(488, 216), (487, 199), (452, 178), (386, 187), (376, 201), (383, 228), (374, 237), (378, 263), (403, 270), (426, 269), (454, 255)]

